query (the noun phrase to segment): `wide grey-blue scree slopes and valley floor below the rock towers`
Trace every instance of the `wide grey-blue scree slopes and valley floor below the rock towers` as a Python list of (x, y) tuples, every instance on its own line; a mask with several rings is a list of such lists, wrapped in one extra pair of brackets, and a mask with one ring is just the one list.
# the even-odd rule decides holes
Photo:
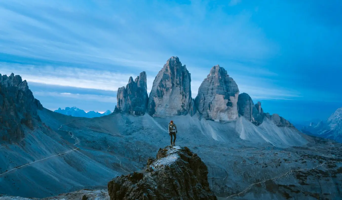
[[(107, 186), (117, 175), (146, 168), (148, 158), (169, 144), (170, 118), (120, 113), (74, 118), (46, 109), (39, 116), (55, 132), (29, 134), (25, 146), (0, 146), (0, 194), (43, 198)], [(339, 143), (278, 127), (267, 118), (260, 126), (246, 119), (243, 124), (198, 120), (196, 115), (172, 119), (179, 129), (176, 144), (191, 147), (207, 165), (209, 187), (218, 199), (334, 200), (341, 196)], [(236, 129), (239, 125), (243, 132)], [(240, 134), (247, 138), (241, 139)], [(276, 146), (262, 142), (263, 138)], [(306, 143), (299, 143), (305, 139)], [(292, 147), (281, 146), (284, 141)], [(60, 153), (64, 154), (51, 157)], [(16, 168), (27, 163), (31, 164)], [(73, 199), (73, 195), (58, 197), (63, 198)]]

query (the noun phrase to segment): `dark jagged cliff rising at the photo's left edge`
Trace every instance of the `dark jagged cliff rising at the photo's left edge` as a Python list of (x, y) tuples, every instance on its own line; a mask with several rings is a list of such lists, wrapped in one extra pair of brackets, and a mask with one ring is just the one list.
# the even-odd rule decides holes
[(31, 130), (40, 121), (38, 109), (43, 109), (34, 98), (26, 80), (12, 73), (9, 77), (0, 74), (0, 143), (19, 142), (24, 138), (24, 129)]

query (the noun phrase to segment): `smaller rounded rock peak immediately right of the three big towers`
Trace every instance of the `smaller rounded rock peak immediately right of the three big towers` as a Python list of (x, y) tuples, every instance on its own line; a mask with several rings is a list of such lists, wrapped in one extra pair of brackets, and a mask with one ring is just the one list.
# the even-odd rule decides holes
[(244, 116), (248, 121), (255, 125), (260, 125), (264, 119), (264, 111), (261, 108), (261, 103), (254, 105), (252, 98), (247, 93), (239, 94), (238, 110), (241, 116)]

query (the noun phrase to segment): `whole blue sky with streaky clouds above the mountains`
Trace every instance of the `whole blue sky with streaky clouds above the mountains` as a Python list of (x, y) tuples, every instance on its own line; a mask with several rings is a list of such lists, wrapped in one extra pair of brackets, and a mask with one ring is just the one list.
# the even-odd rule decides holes
[(294, 121), (342, 107), (342, 2), (0, 0), (0, 73), (48, 109), (113, 110), (116, 90), (171, 56), (192, 93), (216, 64), (266, 112)]

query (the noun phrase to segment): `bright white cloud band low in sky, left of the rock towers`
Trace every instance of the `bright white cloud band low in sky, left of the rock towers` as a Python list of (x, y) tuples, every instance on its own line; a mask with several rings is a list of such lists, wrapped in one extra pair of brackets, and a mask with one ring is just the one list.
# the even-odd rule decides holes
[[(140, 73), (133, 75), (76, 67), (37, 67), (3, 63), (0, 63), (0, 72), (7, 75), (13, 72), (32, 83), (108, 91), (117, 91), (119, 87), (126, 86), (130, 76), (135, 78)], [(148, 77), (147, 79), (147, 89), (150, 91), (154, 77)]]

